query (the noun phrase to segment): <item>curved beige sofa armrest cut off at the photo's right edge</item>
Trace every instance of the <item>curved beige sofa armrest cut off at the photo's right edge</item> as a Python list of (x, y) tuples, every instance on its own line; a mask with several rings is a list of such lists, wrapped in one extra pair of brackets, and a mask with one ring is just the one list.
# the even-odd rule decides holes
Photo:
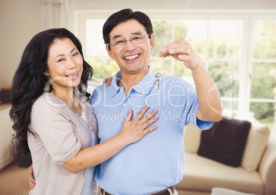
[(276, 194), (276, 135), (271, 133), (259, 166), (260, 176), (264, 182), (264, 195)]

